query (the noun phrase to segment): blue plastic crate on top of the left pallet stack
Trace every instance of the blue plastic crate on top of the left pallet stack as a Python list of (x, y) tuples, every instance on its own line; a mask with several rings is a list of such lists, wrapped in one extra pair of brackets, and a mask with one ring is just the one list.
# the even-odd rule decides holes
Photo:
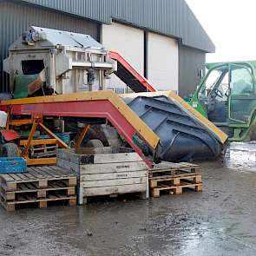
[(0, 174), (21, 174), (27, 171), (27, 161), (22, 157), (0, 157)]

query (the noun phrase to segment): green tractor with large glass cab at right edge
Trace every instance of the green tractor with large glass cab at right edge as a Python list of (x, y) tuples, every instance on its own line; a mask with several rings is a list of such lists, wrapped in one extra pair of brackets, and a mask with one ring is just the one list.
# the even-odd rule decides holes
[(206, 64), (190, 104), (229, 141), (256, 140), (256, 61)]

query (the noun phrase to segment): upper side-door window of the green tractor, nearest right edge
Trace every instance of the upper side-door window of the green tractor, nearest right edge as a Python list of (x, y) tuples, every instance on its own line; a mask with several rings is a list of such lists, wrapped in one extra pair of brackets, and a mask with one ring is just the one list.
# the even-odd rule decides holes
[(253, 93), (252, 69), (246, 66), (233, 65), (230, 89), (232, 95), (248, 95)]

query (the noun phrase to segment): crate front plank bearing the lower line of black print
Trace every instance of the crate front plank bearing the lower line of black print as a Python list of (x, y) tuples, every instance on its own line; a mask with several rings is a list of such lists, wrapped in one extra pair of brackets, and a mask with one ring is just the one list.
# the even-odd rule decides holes
[(147, 171), (134, 171), (134, 172), (120, 172), (120, 173), (108, 173), (108, 174), (83, 174), (80, 176), (80, 181), (108, 181), (114, 179), (130, 179), (147, 177)]

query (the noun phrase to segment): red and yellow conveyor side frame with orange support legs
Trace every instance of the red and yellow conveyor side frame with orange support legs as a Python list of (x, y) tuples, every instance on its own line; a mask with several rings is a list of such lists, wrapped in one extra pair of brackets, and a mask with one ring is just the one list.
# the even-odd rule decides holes
[[(109, 121), (125, 138), (128, 144), (137, 152), (143, 161), (149, 167), (153, 167), (153, 161), (148, 155), (143, 154), (142, 149), (137, 145), (135, 136), (138, 136), (143, 143), (153, 153), (153, 158), (157, 158), (161, 150), (160, 139), (148, 126), (141, 121), (138, 115), (128, 108), (121, 100), (121, 97), (115, 95), (112, 91), (95, 91), (86, 93), (77, 93), (71, 95), (50, 95), (41, 97), (32, 97), (17, 100), (7, 100), (0, 103), (0, 109), (9, 112), (12, 116), (24, 116), (26, 120), (10, 121), (11, 125), (32, 124), (30, 136), (27, 141), (23, 141), (25, 150), (23, 156), (28, 158), (28, 148), (31, 144), (37, 143), (33, 141), (33, 135), (36, 127), (43, 128), (51, 138), (56, 140), (62, 148), (68, 148), (56, 137), (48, 128), (43, 125), (43, 117), (77, 117), (77, 118), (103, 118)], [(28, 120), (28, 116), (30, 119)], [(86, 135), (89, 126), (86, 126), (80, 138), (76, 141), (75, 147), (79, 148), (84, 135)], [(52, 142), (52, 141), (48, 141)], [(41, 159), (35, 161), (29, 160), (29, 164), (54, 164), (53, 159)]]

